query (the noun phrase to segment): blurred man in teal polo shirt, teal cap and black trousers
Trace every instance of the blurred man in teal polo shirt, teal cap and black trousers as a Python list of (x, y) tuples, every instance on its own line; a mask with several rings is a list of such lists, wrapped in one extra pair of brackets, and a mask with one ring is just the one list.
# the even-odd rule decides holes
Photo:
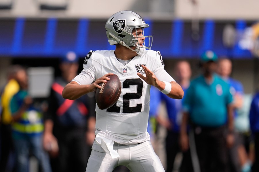
[[(183, 151), (190, 145), (194, 171), (228, 171), (227, 148), (234, 142), (233, 96), (229, 85), (214, 74), (217, 59), (210, 50), (202, 54), (203, 74), (191, 82), (184, 95), (180, 142)], [(195, 162), (196, 156), (199, 162)]]

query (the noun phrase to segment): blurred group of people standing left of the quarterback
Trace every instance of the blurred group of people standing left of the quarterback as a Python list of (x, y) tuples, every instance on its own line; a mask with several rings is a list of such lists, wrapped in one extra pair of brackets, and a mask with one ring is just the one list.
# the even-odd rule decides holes
[(1, 88), (1, 172), (85, 171), (95, 138), (94, 93), (77, 100), (62, 97), (64, 86), (78, 74), (78, 60), (74, 52), (60, 58), (61, 76), (44, 101), (30, 95), (24, 67), (9, 68)]

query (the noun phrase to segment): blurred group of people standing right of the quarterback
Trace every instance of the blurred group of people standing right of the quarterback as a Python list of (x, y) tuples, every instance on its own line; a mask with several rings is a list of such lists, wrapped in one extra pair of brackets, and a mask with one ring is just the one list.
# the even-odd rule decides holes
[(157, 128), (166, 129), (166, 171), (258, 171), (258, 93), (245, 95), (242, 83), (231, 77), (227, 57), (208, 50), (197, 65), (201, 74), (196, 77), (188, 61), (174, 66), (172, 76), (184, 90), (183, 99), (151, 90), (151, 121), (156, 123), (150, 132), (156, 139)]

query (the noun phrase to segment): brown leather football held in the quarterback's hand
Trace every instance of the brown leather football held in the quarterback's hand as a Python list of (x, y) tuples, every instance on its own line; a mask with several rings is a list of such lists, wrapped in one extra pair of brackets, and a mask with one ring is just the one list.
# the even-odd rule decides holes
[(95, 99), (99, 109), (108, 109), (113, 106), (121, 95), (121, 81), (117, 75), (108, 76), (110, 80), (100, 83), (101, 88), (97, 88)]

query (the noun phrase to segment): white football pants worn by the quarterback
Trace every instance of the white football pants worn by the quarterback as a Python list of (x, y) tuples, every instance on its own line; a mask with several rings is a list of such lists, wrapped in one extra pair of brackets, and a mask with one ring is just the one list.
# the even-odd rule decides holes
[(126, 166), (131, 172), (164, 172), (163, 165), (155, 154), (150, 141), (140, 144), (124, 145), (114, 142), (113, 149), (120, 157), (112, 159), (94, 141), (86, 172), (112, 172), (119, 165)]

